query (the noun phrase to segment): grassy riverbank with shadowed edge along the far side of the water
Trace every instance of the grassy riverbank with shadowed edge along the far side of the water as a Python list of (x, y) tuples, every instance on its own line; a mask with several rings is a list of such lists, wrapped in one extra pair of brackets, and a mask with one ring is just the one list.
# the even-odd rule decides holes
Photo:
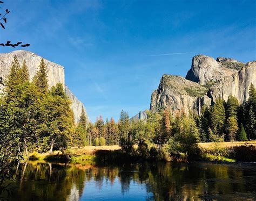
[[(167, 150), (161, 152), (157, 149), (147, 149), (144, 153), (139, 152), (138, 146), (134, 146), (131, 153), (124, 153), (118, 145), (113, 146), (87, 146), (72, 147), (64, 152), (55, 151), (49, 153), (30, 154), (29, 160), (60, 161), (72, 163), (98, 163), (98, 162), (129, 162), (143, 160), (177, 160), (186, 161), (186, 154), (181, 153), (178, 157), (168, 156)], [(204, 142), (198, 143), (197, 160), (201, 161), (255, 161), (256, 141), (247, 142)]]

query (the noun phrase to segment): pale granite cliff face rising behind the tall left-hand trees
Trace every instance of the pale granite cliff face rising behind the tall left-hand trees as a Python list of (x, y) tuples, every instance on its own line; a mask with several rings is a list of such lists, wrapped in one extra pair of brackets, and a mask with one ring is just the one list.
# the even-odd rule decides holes
[[(11, 62), (14, 60), (14, 56), (17, 56), (19, 63), (22, 63), (23, 60), (26, 61), (30, 73), (30, 79), (32, 79), (33, 76), (36, 75), (37, 70), (39, 69), (39, 63), (42, 57), (28, 51), (14, 51), (10, 53), (0, 54), (0, 81), (4, 80), (9, 74)], [(47, 75), (49, 87), (51, 88), (53, 85), (56, 85), (59, 82), (63, 84), (66, 95), (68, 95), (68, 97), (72, 101), (71, 109), (74, 113), (75, 122), (78, 123), (79, 117), (82, 113), (82, 107), (84, 107), (84, 105), (76, 98), (75, 95), (72, 94), (68, 87), (66, 87), (64, 67), (46, 59), (44, 59), (44, 61), (46, 66), (48, 67)], [(3, 87), (4, 86), (2, 82), (0, 82), (0, 91), (3, 90)]]

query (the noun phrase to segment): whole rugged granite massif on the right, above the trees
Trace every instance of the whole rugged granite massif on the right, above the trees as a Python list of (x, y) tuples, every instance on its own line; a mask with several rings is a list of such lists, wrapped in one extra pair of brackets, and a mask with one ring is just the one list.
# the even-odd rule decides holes
[(197, 55), (192, 59), (186, 78), (163, 75), (157, 90), (151, 95), (150, 110), (170, 107), (174, 113), (196, 110), (214, 104), (217, 97), (227, 100), (235, 96), (240, 103), (248, 99), (250, 84), (256, 85), (256, 62), (241, 63), (230, 58)]

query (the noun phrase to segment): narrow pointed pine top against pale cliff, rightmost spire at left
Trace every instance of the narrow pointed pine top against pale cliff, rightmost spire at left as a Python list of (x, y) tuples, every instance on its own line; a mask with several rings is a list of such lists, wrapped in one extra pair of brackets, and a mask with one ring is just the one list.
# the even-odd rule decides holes
[(48, 90), (48, 80), (47, 80), (47, 67), (44, 63), (44, 59), (41, 60), (39, 64), (39, 70), (37, 71), (35, 77), (33, 78), (33, 82), (39, 88), (43, 94)]

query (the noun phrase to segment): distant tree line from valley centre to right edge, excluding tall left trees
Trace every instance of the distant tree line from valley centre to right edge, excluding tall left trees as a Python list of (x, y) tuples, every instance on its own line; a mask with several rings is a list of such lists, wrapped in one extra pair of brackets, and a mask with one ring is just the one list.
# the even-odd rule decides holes
[(254, 140), (255, 117), (256, 91), (251, 84), (249, 98), (243, 104), (239, 104), (238, 99), (232, 95), (228, 96), (226, 102), (217, 98), (214, 105), (203, 107), (200, 116), (192, 111), (187, 115), (182, 110), (172, 116), (168, 107), (160, 112), (147, 111), (145, 120), (130, 121), (129, 114), (125, 111), (121, 112), (117, 123), (113, 118), (104, 122), (100, 116), (95, 124), (84, 124), (83, 128), (79, 128), (72, 145), (122, 146), (123, 143), (146, 142), (157, 144), (161, 148), (173, 137), (176, 140), (194, 137), (197, 142)]

